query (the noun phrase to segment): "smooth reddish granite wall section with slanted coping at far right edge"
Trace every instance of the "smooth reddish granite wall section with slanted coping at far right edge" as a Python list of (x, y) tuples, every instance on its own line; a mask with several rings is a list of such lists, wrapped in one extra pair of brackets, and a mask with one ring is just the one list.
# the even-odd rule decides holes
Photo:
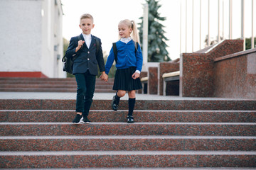
[(214, 96), (256, 98), (256, 49), (214, 60)]

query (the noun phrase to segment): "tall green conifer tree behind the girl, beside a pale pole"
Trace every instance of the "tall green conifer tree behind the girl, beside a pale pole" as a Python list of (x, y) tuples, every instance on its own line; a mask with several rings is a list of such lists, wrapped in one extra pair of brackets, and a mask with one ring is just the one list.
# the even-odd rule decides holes
[[(165, 21), (165, 17), (159, 16), (157, 12), (161, 5), (156, 0), (146, 0), (149, 4), (149, 30), (148, 30), (148, 62), (170, 61), (169, 53), (166, 50), (166, 40), (164, 26), (159, 21)], [(143, 16), (142, 23), (139, 23), (139, 38), (143, 40)], [(142, 46), (142, 45), (141, 45)]]

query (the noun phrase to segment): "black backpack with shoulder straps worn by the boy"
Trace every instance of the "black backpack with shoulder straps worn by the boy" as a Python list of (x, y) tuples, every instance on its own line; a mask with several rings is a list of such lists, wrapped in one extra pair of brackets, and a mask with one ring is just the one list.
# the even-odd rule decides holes
[[(78, 35), (77, 38), (78, 38), (78, 41), (82, 40), (80, 35)], [(100, 42), (97, 38), (95, 38), (95, 40), (96, 40), (96, 55), (98, 55), (99, 48), (100, 48)], [(68, 58), (65, 55), (63, 56), (63, 59), (62, 59), (62, 62), (64, 62), (63, 72), (68, 72), (70, 74), (73, 73), (73, 62), (75, 61), (75, 59), (77, 57), (78, 56)]]

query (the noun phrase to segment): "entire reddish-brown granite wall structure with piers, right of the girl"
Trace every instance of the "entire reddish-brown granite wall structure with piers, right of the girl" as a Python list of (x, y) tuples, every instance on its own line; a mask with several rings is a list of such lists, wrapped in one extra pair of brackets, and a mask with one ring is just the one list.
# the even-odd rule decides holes
[[(180, 70), (178, 81), (166, 83), (166, 95), (182, 97), (256, 98), (256, 52), (243, 52), (242, 40), (224, 40), (178, 62), (149, 67), (148, 94), (163, 95), (163, 74)], [(179, 89), (178, 89), (179, 88)]]

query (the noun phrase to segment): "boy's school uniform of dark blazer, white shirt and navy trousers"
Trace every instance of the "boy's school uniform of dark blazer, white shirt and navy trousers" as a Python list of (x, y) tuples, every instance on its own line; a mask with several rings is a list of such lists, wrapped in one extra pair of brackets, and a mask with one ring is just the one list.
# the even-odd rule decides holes
[[(75, 48), (78, 47), (78, 38), (70, 39), (70, 45), (66, 51), (67, 57), (77, 57), (73, 62), (73, 74), (78, 84), (76, 111), (87, 116), (92, 104), (92, 97), (95, 91), (96, 75), (98, 68), (100, 72), (105, 71), (105, 64), (102, 55), (102, 47), (100, 38), (93, 35), (80, 34), (80, 38), (85, 41), (78, 52)], [(96, 54), (96, 38), (99, 40), (99, 51)]]

